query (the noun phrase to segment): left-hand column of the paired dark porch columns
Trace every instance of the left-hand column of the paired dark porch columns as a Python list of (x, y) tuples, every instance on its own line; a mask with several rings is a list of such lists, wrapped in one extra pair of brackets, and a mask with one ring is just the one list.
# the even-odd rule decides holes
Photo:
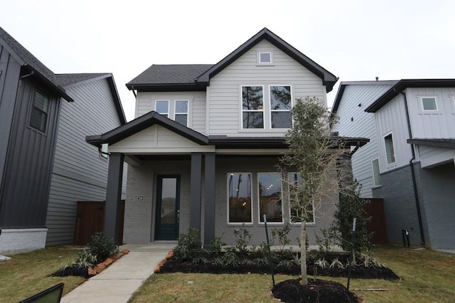
[(190, 227), (200, 231), (200, 188), (202, 179), (202, 154), (191, 154)]

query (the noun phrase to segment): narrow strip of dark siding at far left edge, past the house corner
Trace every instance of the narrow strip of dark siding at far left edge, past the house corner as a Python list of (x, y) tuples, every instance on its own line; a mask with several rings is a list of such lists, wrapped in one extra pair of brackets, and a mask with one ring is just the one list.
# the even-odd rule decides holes
[(19, 63), (0, 45), (0, 196), (20, 72)]

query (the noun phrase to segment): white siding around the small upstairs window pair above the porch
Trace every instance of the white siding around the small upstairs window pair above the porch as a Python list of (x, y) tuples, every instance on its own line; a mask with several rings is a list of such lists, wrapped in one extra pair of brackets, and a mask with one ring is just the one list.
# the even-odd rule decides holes
[(169, 118), (175, 115), (175, 100), (188, 100), (188, 127), (205, 134), (205, 92), (138, 92), (136, 118), (155, 110), (156, 100), (169, 101)]

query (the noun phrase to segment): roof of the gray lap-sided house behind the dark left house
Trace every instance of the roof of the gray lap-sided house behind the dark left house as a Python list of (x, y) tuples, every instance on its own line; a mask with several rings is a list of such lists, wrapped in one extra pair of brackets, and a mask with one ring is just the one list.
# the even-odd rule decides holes
[(114, 105), (120, 119), (120, 124), (123, 125), (127, 123), (127, 118), (125, 117), (122, 102), (120, 102), (119, 92), (117, 92), (117, 85), (115, 85), (114, 75), (112, 75), (112, 73), (57, 74), (55, 75), (55, 79), (64, 87), (71, 87), (73, 85), (81, 85), (82, 83), (106, 79), (109, 85), (109, 90), (114, 98)]

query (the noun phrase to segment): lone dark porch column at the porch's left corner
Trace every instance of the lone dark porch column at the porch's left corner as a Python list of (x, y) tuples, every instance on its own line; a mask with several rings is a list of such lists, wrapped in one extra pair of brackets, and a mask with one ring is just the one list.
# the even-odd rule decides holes
[(109, 156), (109, 174), (107, 176), (105, 205), (105, 234), (119, 244), (119, 213), (122, 199), (124, 154), (112, 153)]

